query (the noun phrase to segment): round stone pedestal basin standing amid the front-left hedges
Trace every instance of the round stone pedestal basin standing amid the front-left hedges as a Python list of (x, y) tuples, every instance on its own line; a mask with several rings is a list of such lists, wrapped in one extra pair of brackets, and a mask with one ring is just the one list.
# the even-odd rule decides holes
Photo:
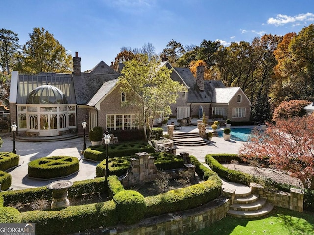
[(47, 185), (47, 188), (52, 190), (52, 203), (50, 208), (62, 208), (70, 206), (70, 202), (67, 199), (68, 188), (73, 185), (69, 180), (58, 180)]

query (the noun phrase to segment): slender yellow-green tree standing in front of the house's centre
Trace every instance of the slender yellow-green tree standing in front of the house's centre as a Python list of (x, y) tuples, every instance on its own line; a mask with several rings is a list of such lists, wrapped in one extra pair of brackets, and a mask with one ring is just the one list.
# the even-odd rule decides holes
[[(150, 139), (154, 118), (162, 111), (171, 114), (170, 104), (175, 103), (178, 91), (186, 91), (183, 84), (170, 78), (171, 71), (160, 67), (160, 61), (149, 60), (140, 54), (137, 59), (125, 62), (118, 84), (128, 95), (123, 105), (131, 107), (138, 124), (143, 126), (146, 139)], [(147, 131), (149, 130), (149, 131)]]

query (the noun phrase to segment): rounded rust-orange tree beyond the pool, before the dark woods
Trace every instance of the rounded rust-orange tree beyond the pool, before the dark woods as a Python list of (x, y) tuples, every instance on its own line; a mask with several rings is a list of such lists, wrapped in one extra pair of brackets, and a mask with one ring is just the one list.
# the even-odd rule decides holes
[(306, 100), (283, 101), (275, 108), (273, 121), (277, 122), (280, 119), (302, 117), (306, 113), (303, 108), (308, 104), (310, 104), (310, 102)]

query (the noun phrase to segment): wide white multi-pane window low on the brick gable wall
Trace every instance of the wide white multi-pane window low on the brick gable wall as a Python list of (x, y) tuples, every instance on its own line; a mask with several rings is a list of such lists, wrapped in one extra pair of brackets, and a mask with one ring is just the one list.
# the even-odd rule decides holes
[(111, 114), (107, 115), (107, 129), (126, 130), (135, 128), (134, 114)]

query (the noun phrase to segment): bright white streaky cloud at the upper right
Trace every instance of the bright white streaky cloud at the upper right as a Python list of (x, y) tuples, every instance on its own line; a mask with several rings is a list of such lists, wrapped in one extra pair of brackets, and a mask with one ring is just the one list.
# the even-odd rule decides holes
[(282, 26), (289, 23), (293, 23), (293, 26), (296, 26), (300, 24), (307, 24), (307, 22), (314, 22), (313, 13), (308, 12), (296, 16), (278, 14), (275, 18), (271, 17), (267, 20), (267, 24), (275, 24), (275, 26)]

